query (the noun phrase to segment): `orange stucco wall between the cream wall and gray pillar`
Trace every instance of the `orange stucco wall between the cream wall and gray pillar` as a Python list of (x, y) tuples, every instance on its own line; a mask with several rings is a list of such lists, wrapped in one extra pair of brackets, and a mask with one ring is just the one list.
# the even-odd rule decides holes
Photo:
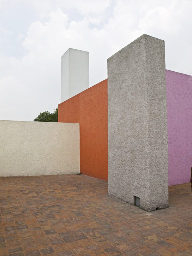
[(107, 79), (59, 104), (58, 122), (80, 124), (80, 172), (108, 180)]

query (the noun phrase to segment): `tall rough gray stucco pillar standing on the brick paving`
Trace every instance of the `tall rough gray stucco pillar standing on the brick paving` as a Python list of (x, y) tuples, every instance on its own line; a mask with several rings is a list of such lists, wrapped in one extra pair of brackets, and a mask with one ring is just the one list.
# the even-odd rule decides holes
[(108, 59), (108, 191), (168, 207), (164, 41), (142, 35)]

